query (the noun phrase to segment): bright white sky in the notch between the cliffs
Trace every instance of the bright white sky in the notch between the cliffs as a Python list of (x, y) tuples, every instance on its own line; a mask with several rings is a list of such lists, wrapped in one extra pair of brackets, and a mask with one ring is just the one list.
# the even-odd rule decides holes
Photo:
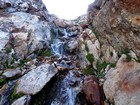
[(87, 12), (94, 0), (42, 0), (50, 14), (62, 19), (75, 19)]

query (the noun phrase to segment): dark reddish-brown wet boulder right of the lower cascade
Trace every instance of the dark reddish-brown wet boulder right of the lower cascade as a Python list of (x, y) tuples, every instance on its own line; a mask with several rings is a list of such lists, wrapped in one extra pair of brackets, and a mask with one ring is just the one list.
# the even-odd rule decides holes
[(101, 104), (101, 94), (97, 78), (94, 76), (85, 77), (83, 91), (87, 99), (95, 105)]

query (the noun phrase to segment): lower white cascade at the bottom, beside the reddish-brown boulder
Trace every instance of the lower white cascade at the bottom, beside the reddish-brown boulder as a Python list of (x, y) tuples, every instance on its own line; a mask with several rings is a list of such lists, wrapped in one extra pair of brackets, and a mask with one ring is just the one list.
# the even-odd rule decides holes
[(69, 71), (67, 76), (60, 82), (57, 95), (51, 105), (75, 105), (76, 97), (82, 84), (82, 78), (76, 77), (75, 72), (77, 71)]

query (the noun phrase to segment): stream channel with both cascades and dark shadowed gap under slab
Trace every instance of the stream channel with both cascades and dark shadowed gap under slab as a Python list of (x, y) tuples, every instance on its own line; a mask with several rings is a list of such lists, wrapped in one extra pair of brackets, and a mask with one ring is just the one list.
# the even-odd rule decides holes
[[(70, 39), (66, 29), (60, 36), (58, 29), (54, 29), (55, 38), (51, 44), (52, 53), (58, 56), (57, 64), (71, 68), (68, 62), (68, 54), (65, 50), (64, 39)], [(67, 62), (66, 62), (67, 61)], [(60, 71), (49, 83), (35, 96), (32, 97), (31, 105), (76, 105), (78, 93), (83, 83), (82, 73), (78, 70)]]

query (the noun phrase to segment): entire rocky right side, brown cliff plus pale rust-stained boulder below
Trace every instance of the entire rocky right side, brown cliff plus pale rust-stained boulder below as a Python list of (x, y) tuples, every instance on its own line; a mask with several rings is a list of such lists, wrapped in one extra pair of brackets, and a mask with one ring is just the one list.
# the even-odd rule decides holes
[(107, 68), (103, 84), (106, 98), (115, 105), (140, 104), (139, 13), (139, 0), (95, 0), (88, 8), (88, 23), (100, 42), (93, 55), (98, 51), (102, 62), (117, 62)]

